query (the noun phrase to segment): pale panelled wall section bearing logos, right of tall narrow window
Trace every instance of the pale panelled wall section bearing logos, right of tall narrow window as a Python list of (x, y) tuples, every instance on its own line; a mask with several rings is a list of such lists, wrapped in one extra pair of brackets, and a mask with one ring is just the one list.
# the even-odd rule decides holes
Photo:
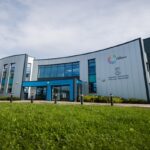
[[(113, 55), (125, 58), (110, 64), (108, 57)], [(139, 40), (102, 51), (96, 64), (98, 94), (147, 99)]]

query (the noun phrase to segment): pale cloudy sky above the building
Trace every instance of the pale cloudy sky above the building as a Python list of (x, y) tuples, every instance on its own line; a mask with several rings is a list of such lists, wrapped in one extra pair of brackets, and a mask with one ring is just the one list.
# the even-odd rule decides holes
[(150, 0), (0, 0), (0, 58), (54, 58), (150, 37)]

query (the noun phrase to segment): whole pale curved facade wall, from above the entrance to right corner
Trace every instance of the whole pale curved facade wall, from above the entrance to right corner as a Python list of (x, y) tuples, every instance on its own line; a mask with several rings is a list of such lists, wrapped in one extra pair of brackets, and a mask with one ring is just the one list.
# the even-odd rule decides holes
[[(115, 55), (114, 64), (108, 57)], [(121, 58), (122, 59), (119, 59)], [(80, 79), (88, 82), (88, 60), (96, 59), (97, 94), (147, 99), (139, 39), (93, 53), (56, 59), (34, 60), (32, 80), (37, 80), (38, 65), (80, 62)], [(119, 74), (116, 75), (118, 70)], [(121, 79), (122, 78), (122, 79)]]

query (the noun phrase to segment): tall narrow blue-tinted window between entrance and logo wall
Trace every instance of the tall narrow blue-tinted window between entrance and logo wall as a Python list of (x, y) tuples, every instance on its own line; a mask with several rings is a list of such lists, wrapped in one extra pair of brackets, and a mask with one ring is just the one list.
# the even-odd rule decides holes
[(89, 93), (96, 93), (96, 63), (95, 59), (88, 60)]

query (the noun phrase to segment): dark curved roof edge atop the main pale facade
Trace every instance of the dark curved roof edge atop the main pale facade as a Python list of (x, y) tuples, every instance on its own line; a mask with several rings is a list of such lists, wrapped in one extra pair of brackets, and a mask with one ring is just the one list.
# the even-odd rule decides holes
[(40, 61), (40, 60), (53, 60), (53, 59), (62, 59), (62, 58), (70, 58), (70, 57), (76, 57), (76, 56), (81, 56), (81, 55), (88, 55), (88, 54), (92, 54), (92, 53), (95, 53), (95, 52), (99, 52), (99, 51), (105, 51), (105, 50), (109, 50), (111, 48), (114, 48), (114, 47), (118, 47), (118, 46), (121, 46), (121, 45), (125, 45), (125, 44), (128, 44), (128, 43), (131, 43), (131, 42), (134, 42), (134, 41), (137, 41), (137, 40), (140, 40), (141, 38), (137, 38), (137, 39), (134, 39), (134, 40), (131, 40), (131, 41), (128, 41), (128, 42), (124, 42), (122, 44), (118, 44), (118, 45), (115, 45), (115, 46), (111, 46), (111, 47), (108, 47), (108, 48), (104, 48), (104, 49), (101, 49), (101, 50), (95, 50), (93, 52), (88, 52), (88, 53), (83, 53), (83, 54), (77, 54), (77, 55), (71, 55), (71, 56), (64, 56), (64, 57), (56, 57), (56, 58), (43, 58), (43, 59), (35, 59), (36, 61)]

